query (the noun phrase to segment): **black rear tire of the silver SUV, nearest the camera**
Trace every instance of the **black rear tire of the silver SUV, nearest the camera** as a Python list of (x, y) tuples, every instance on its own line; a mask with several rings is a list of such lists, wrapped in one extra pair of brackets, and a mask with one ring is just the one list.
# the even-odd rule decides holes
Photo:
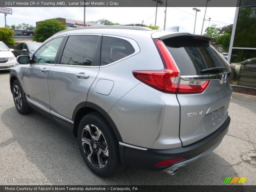
[[(92, 130), (91, 133), (93, 134), (97, 133), (97, 134), (92, 137), (91, 133), (87, 131), (86, 127), (87, 128), (90, 127), (90, 130)], [(99, 130), (99, 131), (95, 131), (95, 130)], [(101, 136), (101, 134), (99, 134), (100, 132), (103, 135), (103, 137)], [(91, 144), (90, 144), (91, 147), (89, 146), (88, 143), (82, 142), (82, 137), (92, 138)], [(96, 142), (97, 140), (94, 140), (94, 137), (98, 137), (98, 141), (100, 142), (100, 144), (97, 144)], [(101, 140), (99, 139), (100, 137), (101, 137)], [(90, 142), (90, 139), (87, 139), (87, 140), (88, 140), (87, 142)], [(99, 113), (92, 112), (87, 114), (81, 119), (78, 126), (78, 142), (79, 142), (79, 148), (84, 158), (84, 161), (94, 174), (103, 178), (108, 178), (117, 174), (121, 170), (118, 141), (108, 121)], [(98, 148), (98, 152), (97, 152), (97, 148)], [(105, 154), (108, 154), (108, 157), (105, 156), (105, 154), (102, 152), (103, 150), (101, 151), (99, 150), (101, 148), (105, 151), (106, 149), (108, 149), (108, 153), (105, 152)], [(92, 156), (91, 158), (89, 157), (90, 161), (87, 158), (88, 154)], [(99, 159), (99, 156), (100, 156), (99, 154), (101, 155), (100, 159)], [(102, 165), (104, 165), (104, 167)]]

